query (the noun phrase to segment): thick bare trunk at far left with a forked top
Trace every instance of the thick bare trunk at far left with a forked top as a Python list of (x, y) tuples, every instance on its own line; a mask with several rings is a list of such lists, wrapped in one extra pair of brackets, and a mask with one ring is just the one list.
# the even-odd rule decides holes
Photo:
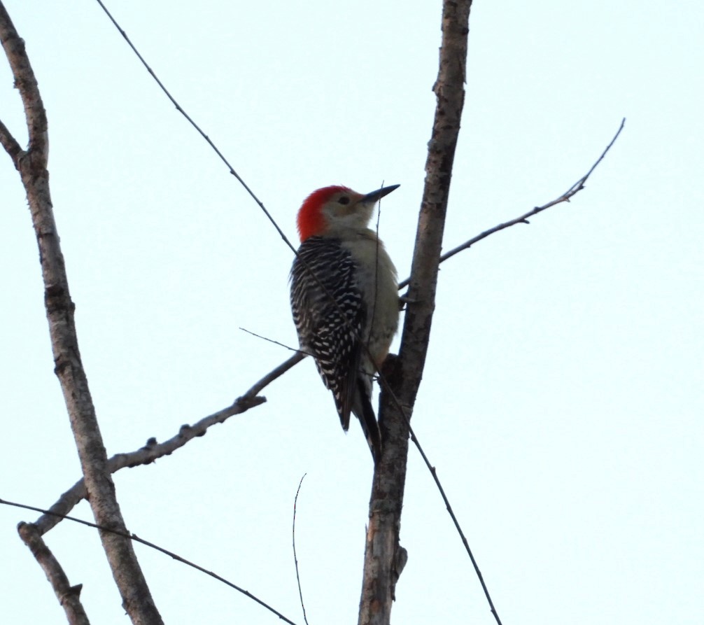
[[(96, 524), (126, 533), (78, 349), (73, 317), (75, 307), (70, 298), (49, 193), (49, 172), (46, 170), (49, 156), (46, 113), (37, 79), (27, 58), (25, 43), (20, 39), (1, 1), (0, 42), (12, 69), (15, 86), (20, 90), (27, 119), (27, 152), (23, 153), (21, 158), (14, 146), (11, 146), (11, 152), (14, 153), (15, 167), (18, 168), (25, 187), (32, 225), (37, 236), (44, 279), (44, 305), (49, 322), (55, 372), (61, 382)], [(130, 619), (136, 625), (161, 625), (161, 616), (139, 568), (132, 542), (113, 532), (99, 532), (113, 578), (122, 596), (122, 605)]]

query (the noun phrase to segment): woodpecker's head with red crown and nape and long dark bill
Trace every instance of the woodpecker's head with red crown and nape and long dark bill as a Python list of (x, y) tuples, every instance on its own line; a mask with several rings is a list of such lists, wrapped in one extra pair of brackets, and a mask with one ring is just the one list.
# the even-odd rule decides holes
[(374, 206), (398, 184), (361, 194), (348, 187), (323, 187), (313, 191), (298, 210), (296, 224), (301, 243), (315, 234), (332, 234), (347, 229), (364, 229), (369, 225)]

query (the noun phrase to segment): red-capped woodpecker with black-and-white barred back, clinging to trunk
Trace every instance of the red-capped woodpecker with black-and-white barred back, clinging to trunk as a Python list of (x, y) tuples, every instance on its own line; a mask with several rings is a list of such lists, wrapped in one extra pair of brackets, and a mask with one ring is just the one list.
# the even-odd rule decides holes
[(375, 204), (398, 184), (360, 194), (313, 191), (298, 210), (301, 246), (291, 267), (291, 311), (301, 350), (332, 391), (342, 429), (360, 420), (377, 462), (382, 451), (372, 376), (398, 329), (396, 267), (369, 226)]

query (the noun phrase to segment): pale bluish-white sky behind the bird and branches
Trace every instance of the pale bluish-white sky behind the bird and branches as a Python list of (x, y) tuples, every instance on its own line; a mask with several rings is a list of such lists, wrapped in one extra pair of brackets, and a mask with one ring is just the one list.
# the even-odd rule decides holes
[[(161, 94), (98, 4), (5, 0), (49, 117), (51, 192), (108, 454), (224, 408), (296, 346), (291, 251)], [(108, 4), (186, 111), (295, 241), (318, 187), (401, 188), (379, 233), (408, 275), (441, 3)], [(504, 625), (704, 623), (704, 8), (477, 0), (446, 248), (560, 195), (570, 204), (442, 266), (413, 427)], [(25, 143), (0, 62), (0, 118)], [(80, 476), (24, 191), (0, 155), (0, 497), (49, 507)], [(291, 513), (310, 625), (356, 622), (372, 465), (313, 362), (268, 402), (115, 474), (130, 531), (296, 623)], [(92, 520), (86, 503), (73, 514)], [(0, 605), (65, 622), (0, 507)], [(94, 623), (126, 623), (98, 537), (46, 537)], [(494, 619), (410, 451), (394, 623)], [(168, 623), (276, 624), (136, 546)]]

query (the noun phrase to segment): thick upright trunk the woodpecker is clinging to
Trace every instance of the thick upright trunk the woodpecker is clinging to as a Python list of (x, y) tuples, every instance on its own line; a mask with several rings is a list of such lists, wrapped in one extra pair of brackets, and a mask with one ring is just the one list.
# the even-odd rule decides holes
[(464, 104), (465, 63), (471, 0), (444, 0), (440, 64), (432, 137), (425, 165), (406, 320), (398, 360), (386, 376), (406, 415), (391, 393), (382, 390), (379, 426), (384, 451), (375, 467), (365, 546), (360, 625), (388, 625), (396, 580), (406, 563), (398, 543), (408, 460), (408, 425), (417, 394), (432, 324), (439, 257), (452, 165)]

